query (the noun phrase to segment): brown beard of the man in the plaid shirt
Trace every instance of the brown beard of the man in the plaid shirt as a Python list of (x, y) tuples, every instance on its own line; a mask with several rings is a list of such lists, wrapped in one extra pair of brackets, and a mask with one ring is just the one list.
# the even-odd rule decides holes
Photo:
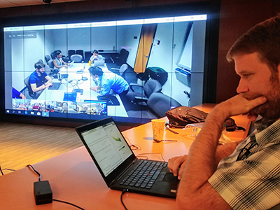
[[(280, 83), (278, 78), (278, 73), (272, 73), (271, 86), (266, 95), (267, 102), (260, 106), (252, 109), (253, 113), (256, 113), (267, 120), (277, 120), (280, 118)], [(246, 95), (244, 97), (247, 99), (255, 99), (256, 97), (262, 96), (261, 94)]]

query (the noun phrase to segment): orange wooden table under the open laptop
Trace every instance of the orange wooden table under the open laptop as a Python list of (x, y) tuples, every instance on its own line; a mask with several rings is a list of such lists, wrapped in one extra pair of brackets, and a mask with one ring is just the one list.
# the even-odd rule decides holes
[[(196, 106), (209, 112), (214, 104)], [(250, 121), (246, 116), (234, 117), (237, 125), (245, 127), (246, 132), (230, 132), (227, 134), (232, 140), (246, 137)], [(165, 118), (167, 119), (167, 118)], [(177, 141), (153, 142), (152, 125), (146, 123), (123, 132), (127, 141), (141, 150), (134, 151), (136, 155), (142, 153), (153, 160), (165, 161), (169, 158), (188, 153), (193, 139), (184, 135), (184, 130), (176, 129), (179, 134), (165, 130), (164, 139)], [(78, 135), (77, 135), (78, 138)], [(8, 149), (8, 148), (7, 148)], [(68, 153), (58, 155), (33, 165), (41, 173), (42, 181), (48, 180), (52, 188), (53, 199), (63, 200), (76, 204), (83, 209), (124, 209), (120, 202), (121, 192), (107, 188), (102, 176), (97, 171), (94, 162), (84, 146)], [(0, 176), (0, 209), (77, 209), (69, 204), (52, 202), (36, 206), (33, 194), (33, 183), (38, 181), (38, 175), (30, 168), (23, 168), (16, 172)], [(176, 209), (176, 202), (171, 198), (125, 193), (123, 202), (127, 209)]]

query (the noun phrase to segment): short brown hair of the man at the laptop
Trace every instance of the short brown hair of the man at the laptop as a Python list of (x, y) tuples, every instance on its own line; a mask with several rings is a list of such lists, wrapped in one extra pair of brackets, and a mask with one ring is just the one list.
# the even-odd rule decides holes
[(235, 41), (227, 54), (228, 62), (238, 55), (258, 52), (260, 62), (277, 71), (280, 64), (280, 15), (260, 22)]

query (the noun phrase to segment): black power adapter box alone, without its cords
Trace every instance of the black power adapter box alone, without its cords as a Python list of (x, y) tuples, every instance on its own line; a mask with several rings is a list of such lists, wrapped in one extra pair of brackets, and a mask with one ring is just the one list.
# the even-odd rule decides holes
[(34, 182), (34, 197), (36, 205), (49, 204), (52, 202), (52, 189), (48, 181)]

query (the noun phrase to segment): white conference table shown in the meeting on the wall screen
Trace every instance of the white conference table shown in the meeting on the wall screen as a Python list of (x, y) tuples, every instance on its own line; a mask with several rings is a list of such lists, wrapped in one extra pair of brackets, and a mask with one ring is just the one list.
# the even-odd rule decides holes
[[(92, 78), (90, 77), (90, 72), (88, 68), (90, 66), (88, 64), (77, 63), (73, 64), (73, 66), (69, 68), (62, 68), (59, 73), (61, 75), (68, 74), (68, 78), (62, 79), (62, 84), (60, 85), (58, 90), (49, 90), (45, 89), (38, 100), (44, 101), (59, 101), (62, 102), (64, 98), (64, 92), (72, 92), (73, 89), (83, 89), (83, 94), (77, 93), (76, 102), (84, 102), (84, 100), (97, 100), (97, 96), (100, 95), (98, 92), (90, 90), (90, 87), (96, 86)], [(101, 66), (104, 72), (111, 72), (107, 69), (106, 66)], [(80, 73), (78, 73), (80, 71)], [(111, 72), (112, 73), (112, 72)], [(87, 78), (87, 80), (82, 80), (83, 78)], [(71, 81), (72, 80), (72, 81)], [(73, 87), (71, 83), (78, 84), (76, 87)], [(58, 78), (53, 78), (52, 82), (59, 83)], [(123, 106), (123, 102), (120, 99), (119, 94), (115, 94), (120, 105), (118, 106), (107, 106), (108, 115), (109, 116), (120, 116), (127, 117), (127, 112), (125, 111), (125, 106)]]

